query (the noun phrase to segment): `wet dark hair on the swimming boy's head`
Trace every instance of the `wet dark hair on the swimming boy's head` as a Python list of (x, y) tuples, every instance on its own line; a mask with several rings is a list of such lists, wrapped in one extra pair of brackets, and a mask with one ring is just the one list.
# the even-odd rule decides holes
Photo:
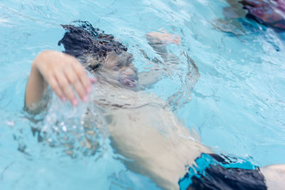
[(122, 43), (115, 41), (113, 35), (94, 28), (88, 21), (74, 21), (73, 23), (76, 25), (61, 25), (66, 29), (66, 33), (61, 41), (58, 41), (58, 46), (63, 44), (65, 49), (63, 52), (75, 56), (83, 65), (90, 57), (97, 60), (97, 63), (88, 64), (89, 69), (97, 69), (108, 52), (113, 51), (120, 56), (121, 53), (125, 55), (128, 51)]

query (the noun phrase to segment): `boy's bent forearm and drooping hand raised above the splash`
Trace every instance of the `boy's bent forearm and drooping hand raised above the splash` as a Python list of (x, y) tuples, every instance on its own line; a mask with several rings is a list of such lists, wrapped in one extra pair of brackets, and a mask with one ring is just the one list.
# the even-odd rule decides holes
[(33, 60), (25, 94), (25, 107), (40, 102), (48, 85), (61, 98), (77, 105), (71, 86), (83, 102), (88, 100), (95, 78), (88, 78), (86, 70), (73, 56), (58, 51), (43, 51)]

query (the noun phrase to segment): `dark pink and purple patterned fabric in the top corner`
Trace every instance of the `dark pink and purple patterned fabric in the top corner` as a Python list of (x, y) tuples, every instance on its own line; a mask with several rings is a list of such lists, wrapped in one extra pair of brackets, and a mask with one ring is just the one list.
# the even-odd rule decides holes
[(285, 0), (242, 0), (241, 3), (261, 23), (285, 30)]

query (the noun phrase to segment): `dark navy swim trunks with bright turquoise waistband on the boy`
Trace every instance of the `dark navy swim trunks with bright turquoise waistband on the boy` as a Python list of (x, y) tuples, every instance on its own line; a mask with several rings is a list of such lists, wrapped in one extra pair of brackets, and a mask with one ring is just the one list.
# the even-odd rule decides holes
[(259, 167), (245, 159), (218, 154), (201, 154), (197, 166), (180, 179), (181, 190), (204, 189), (267, 189)]

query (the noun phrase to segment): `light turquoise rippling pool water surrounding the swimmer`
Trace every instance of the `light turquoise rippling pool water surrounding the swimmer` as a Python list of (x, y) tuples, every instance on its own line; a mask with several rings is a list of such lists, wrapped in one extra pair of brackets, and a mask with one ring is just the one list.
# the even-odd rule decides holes
[[(248, 19), (241, 19), (246, 34), (223, 33), (214, 21), (225, 6), (222, 0), (0, 1), (0, 189), (155, 189), (128, 171), (108, 139), (100, 157), (71, 158), (31, 132), (22, 111), (31, 62), (45, 49), (62, 51), (60, 24), (78, 19), (128, 44), (139, 70), (148, 63), (140, 49), (155, 57), (145, 33), (164, 28), (180, 35), (182, 46), (170, 49), (182, 60), (186, 52), (200, 78), (177, 116), (216, 152), (259, 166), (285, 163), (285, 33)], [(187, 91), (186, 73), (180, 63), (150, 91), (164, 100)]]

